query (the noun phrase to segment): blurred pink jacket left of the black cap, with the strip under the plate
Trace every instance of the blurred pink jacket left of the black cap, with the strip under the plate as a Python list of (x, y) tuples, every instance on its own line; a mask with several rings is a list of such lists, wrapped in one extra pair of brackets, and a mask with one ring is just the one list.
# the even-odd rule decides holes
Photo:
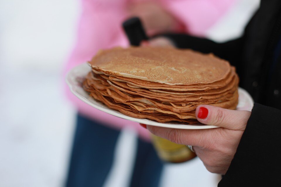
[[(105, 1), (82, 1), (82, 15), (78, 23), (76, 44), (66, 63), (64, 77), (71, 68), (91, 60), (99, 49), (111, 48), (113, 46), (128, 46), (128, 41), (121, 28), (121, 23), (126, 16), (122, 9), (126, 0), (107, 1), (106, 3)], [(91, 107), (74, 96), (65, 83), (64, 89), (67, 98), (72, 101), (82, 115), (115, 129), (130, 126), (138, 132), (141, 138), (146, 141), (150, 140), (148, 130), (141, 127), (138, 123), (112, 116)]]

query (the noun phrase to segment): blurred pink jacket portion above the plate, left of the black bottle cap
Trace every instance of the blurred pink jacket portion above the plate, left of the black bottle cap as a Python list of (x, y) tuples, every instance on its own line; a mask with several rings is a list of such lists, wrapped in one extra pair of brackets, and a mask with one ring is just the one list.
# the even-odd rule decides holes
[(108, 3), (101, 0), (82, 0), (76, 44), (68, 59), (66, 71), (91, 60), (99, 49), (128, 45), (120, 27), (126, 16), (123, 1), (115, 1), (108, 6)]

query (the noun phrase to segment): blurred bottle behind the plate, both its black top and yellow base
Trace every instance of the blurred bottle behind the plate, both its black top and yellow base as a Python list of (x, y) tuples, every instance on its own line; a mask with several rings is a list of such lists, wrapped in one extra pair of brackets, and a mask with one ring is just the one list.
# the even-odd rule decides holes
[[(123, 23), (123, 28), (132, 46), (139, 46), (148, 40), (139, 18), (133, 17)], [(187, 146), (173, 143), (159, 136), (152, 135), (152, 142), (158, 156), (165, 162), (181, 163), (196, 157)]]

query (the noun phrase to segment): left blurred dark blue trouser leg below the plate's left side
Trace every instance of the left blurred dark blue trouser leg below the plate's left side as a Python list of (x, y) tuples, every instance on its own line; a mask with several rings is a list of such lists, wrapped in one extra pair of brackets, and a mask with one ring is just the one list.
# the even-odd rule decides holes
[(67, 187), (102, 186), (113, 162), (119, 131), (77, 115)]

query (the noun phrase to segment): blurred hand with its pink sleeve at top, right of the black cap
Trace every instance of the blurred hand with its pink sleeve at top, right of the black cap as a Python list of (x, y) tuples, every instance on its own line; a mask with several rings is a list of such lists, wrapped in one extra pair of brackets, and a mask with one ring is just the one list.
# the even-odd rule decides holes
[(175, 32), (203, 36), (236, 0), (128, 1), (130, 16), (143, 21), (147, 34)]

